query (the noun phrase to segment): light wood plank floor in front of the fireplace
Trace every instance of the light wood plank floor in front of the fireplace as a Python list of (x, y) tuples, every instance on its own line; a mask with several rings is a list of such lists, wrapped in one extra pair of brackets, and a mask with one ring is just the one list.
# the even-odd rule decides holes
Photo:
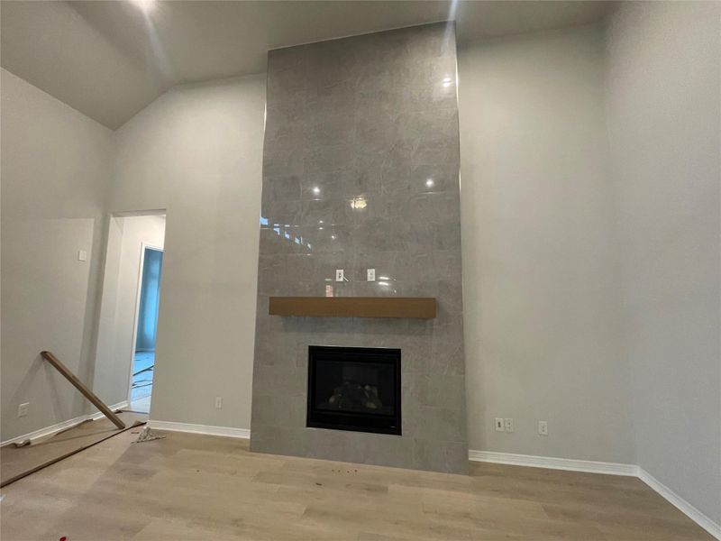
[(634, 478), (482, 463), (466, 477), (132, 432), (5, 487), (3, 541), (711, 539)]

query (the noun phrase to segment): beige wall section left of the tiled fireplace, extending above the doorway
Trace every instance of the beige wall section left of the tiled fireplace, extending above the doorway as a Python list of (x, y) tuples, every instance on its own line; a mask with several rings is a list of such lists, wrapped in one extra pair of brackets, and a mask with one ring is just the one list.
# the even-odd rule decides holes
[(264, 99), (176, 87), (117, 132), (111, 211), (167, 210), (152, 419), (250, 426)]

